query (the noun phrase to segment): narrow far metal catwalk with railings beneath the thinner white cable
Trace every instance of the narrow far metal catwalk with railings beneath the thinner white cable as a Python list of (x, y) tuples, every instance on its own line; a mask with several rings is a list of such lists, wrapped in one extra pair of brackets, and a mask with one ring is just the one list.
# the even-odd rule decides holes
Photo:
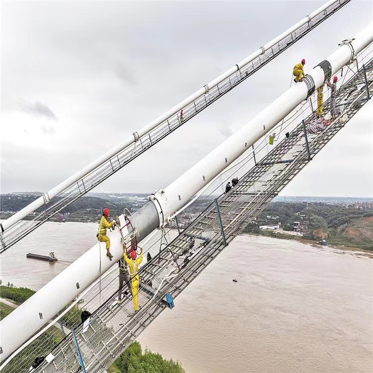
[[(91, 173), (87, 174), (70, 187), (67, 187), (50, 201), (46, 195), (44, 198), (44, 207), (40, 209), (41, 211), (39, 215), (34, 216), (31, 220), (21, 220), (4, 232), (0, 233), (0, 253), (4, 252), (23, 237), (31, 233), (34, 229), (48, 221), (64, 207), (68, 206), (70, 203), (92, 190), (98, 184), (102, 183), (108, 177), (137, 158), (140, 154), (150, 149), (153, 145), (164, 139), (170, 133), (180, 128), (189, 119), (194, 117), (194, 115), (201, 112), (225, 93), (237, 87), (245, 79), (272, 61), (274, 58), (280, 55), (280, 53), (285, 51), (296, 41), (317, 27), (321, 22), (330, 17), (349, 1), (350, 0), (339, 0), (334, 2), (322, 13), (315, 16), (311, 21), (298, 27), (298, 29), (296, 29), (290, 35), (282, 38), (275, 46), (266, 50), (261, 56), (257, 57), (255, 60), (238, 70), (236, 73), (232, 74), (227, 79), (223, 80), (215, 87), (212, 87), (207, 93), (202, 94), (190, 104), (186, 105), (183, 108), (182, 119), (180, 118), (179, 113), (170, 116), (153, 130), (139, 137), (138, 140), (132, 145), (122, 149), (107, 162), (104, 162), (100, 166), (96, 167)], [(135, 132), (135, 134), (136, 133), (137, 132)]]

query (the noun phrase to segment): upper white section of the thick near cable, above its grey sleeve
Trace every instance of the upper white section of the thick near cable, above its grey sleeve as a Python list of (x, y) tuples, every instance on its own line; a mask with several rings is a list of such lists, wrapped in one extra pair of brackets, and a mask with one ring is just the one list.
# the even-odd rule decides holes
[[(371, 23), (356, 35), (355, 40), (351, 43), (352, 47), (349, 44), (342, 45), (327, 58), (332, 67), (332, 74), (349, 63), (353, 56), (352, 50), (359, 53), (372, 40), (373, 24)], [(314, 67), (308, 75), (313, 78), (316, 90), (324, 83), (325, 75), (320, 66)], [(205, 187), (216, 175), (220, 174), (305, 100), (307, 93), (308, 88), (305, 83), (295, 84), (170, 186), (157, 191), (155, 196), (161, 204), (165, 223), (166, 219), (179, 210), (192, 195)], [(160, 215), (160, 218), (162, 216)]]

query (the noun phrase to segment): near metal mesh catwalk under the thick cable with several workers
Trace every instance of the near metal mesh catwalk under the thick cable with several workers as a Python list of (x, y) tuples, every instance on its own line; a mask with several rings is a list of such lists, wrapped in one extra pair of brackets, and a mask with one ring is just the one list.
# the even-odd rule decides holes
[[(344, 105), (347, 120), (367, 103), (369, 94), (373, 93), (373, 60), (364, 68), (365, 71), (361, 68), (338, 91), (337, 105)], [(368, 86), (365, 84), (365, 72)], [(324, 102), (324, 112), (329, 104), (329, 100)], [(167, 307), (166, 294), (177, 297), (346, 124), (340, 123), (337, 118), (321, 132), (305, 136), (305, 128), (314, 118), (315, 114), (311, 114), (298, 123), (273, 151), (240, 178), (236, 187), (211, 203), (140, 269), (140, 311), (137, 314), (133, 313), (129, 297), (118, 305), (115, 292), (93, 312), (87, 330), (83, 331), (83, 325), (76, 328), (87, 372), (101, 373), (107, 369)], [(48, 352), (45, 351), (46, 354)], [(80, 371), (71, 334), (55, 346), (51, 354), (53, 361), (43, 363), (33, 372)], [(27, 370), (19, 369), (18, 365), (17, 368), (12, 366), (12, 369), (5, 367), (3, 372), (21, 373)]]

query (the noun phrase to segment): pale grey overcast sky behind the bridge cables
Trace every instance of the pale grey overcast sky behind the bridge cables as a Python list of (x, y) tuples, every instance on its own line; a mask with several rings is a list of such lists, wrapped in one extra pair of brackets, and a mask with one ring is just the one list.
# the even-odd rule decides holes
[[(1, 1), (1, 192), (51, 189), (324, 2)], [(352, 0), (95, 191), (167, 187), (371, 20)], [(372, 196), (372, 101), (282, 194)]]

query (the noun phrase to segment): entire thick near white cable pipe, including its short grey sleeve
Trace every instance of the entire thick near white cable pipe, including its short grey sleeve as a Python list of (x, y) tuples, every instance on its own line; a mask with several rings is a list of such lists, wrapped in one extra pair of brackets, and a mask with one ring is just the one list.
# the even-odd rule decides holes
[[(356, 53), (372, 43), (372, 26), (370, 24), (356, 35), (352, 42), (352, 47)], [(350, 59), (351, 48), (349, 45), (343, 45), (327, 60), (331, 64), (332, 73), (335, 73), (346, 65)], [(315, 82), (315, 88), (323, 84), (324, 73), (319, 66), (315, 67), (309, 75)], [(160, 202), (162, 212), (157, 202), (149, 201), (134, 214), (133, 221), (139, 232), (139, 238), (144, 239), (159, 224), (162, 224), (162, 219), (166, 221), (169, 216), (187, 203), (187, 200), (199, 189), (242, 155), (260, 137), (268, 133), (307, 97), (307, 91), (305, 83), (297, 83), (169, 187), (157, 191), (154, 196)], [(225, 161), (225, 159), (227, 160)], [(203, 180), (203, 177), (205, 180)], [(109, 262), (105, 256), (104, 248), (101, 247), (101, 250), (99, 250), (98, 244), (96, 244), (5, 319), (1, 320), (1, 348), (3, 352), (0, 354), (0, 360), (6, 358), (18, 348), (42, 327), (46, 320), (52, 318), (78, 293), (98, 278), (99, 253), (101, 253), (102, 273), (120, 259), (122, 255), (120, 235), (114, 231), (109, 237), (111, 242), (110, 252), (114, 257), (112, 262)], [(76, 286), (77, 282), (80, 284), (79, 290)], [(39, 312), (42, 312), (43, 320), (40, 319)]]

